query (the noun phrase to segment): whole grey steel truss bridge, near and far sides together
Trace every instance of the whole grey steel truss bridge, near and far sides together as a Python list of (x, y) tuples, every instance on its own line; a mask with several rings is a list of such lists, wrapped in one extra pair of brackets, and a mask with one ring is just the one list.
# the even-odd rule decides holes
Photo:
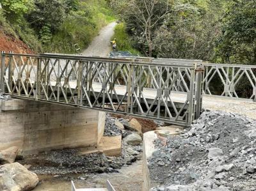
[[(220, 89), (214, 89), (219, 79)], [(188, 59), (1, 53), (1, 92), (15, 98), (157, 119), (188, 126), (203, 95), (239, 98), (247, 84), (256, 102), (256, 66)], [(241, 96), (240, 96), (241, 97)]]

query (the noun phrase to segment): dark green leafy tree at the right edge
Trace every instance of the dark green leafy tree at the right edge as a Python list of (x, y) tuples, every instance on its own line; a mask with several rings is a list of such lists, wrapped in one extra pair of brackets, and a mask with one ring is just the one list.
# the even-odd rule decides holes
[(232, 1), (223, 19), (216, 61), (256, 64), (256, 1)]

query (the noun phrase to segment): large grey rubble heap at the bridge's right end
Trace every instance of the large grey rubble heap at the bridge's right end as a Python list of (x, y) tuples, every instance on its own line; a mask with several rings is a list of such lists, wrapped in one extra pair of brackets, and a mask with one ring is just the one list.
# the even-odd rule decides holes
[(205, 111), (182, 135), (156, 139), (151, 190), (256, 190), (256, 121)]

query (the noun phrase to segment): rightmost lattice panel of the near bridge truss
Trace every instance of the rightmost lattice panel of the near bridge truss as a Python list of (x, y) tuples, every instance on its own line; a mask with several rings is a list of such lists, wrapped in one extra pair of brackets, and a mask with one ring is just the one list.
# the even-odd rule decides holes
[[(157, 116), (157, 118), (166, 119), (185, 119), (188, 112), (187, 104), (190, 96), (190, 75), (185, 79), (186, 68), (174, 68), (168, 66), (137, 66), (135, 79), (132, 80), (132, 106), (137, 105), (138, 109), (132, 112), (138, 112), (143, 116)], [(171, 96), (171, 91), (179, 86), (184, 87), (188, 96), (182, 100), (182, 106), (177, 107)], [(186, 82), (186, 80), (188, 80)], [(150, 83), (150, 84), (149, 84)], [(151, 87), (151, 88), (147, 88)], [(151, 95), (149, 100), (146, 95)], [(135, 107), (136, 108), (136, 107)]]

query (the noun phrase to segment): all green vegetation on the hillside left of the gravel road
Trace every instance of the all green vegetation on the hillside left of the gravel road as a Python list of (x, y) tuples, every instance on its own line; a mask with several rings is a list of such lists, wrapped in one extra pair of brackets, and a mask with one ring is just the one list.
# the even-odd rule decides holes
[(74, 53), (115, 20), (104, 0), (1, 0), (1, 31), (36, 52)]

